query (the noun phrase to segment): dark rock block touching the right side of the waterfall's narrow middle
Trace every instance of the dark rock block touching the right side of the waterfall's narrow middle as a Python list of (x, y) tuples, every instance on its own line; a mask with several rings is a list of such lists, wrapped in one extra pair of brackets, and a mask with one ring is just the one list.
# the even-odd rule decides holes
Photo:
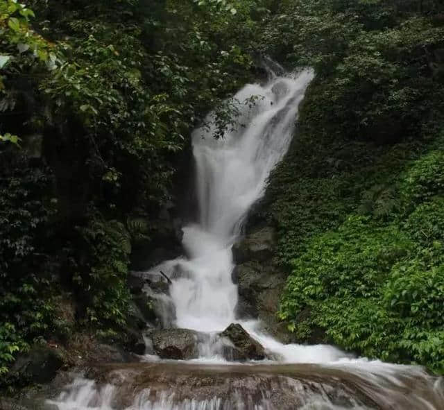
[(273, 248), (275, 244), (275, 231), (273, 228), (266, 227), (248, 236), (232, 248), (234, 262), (244, 263), (255, 259), (264, 261), (273, 257)]

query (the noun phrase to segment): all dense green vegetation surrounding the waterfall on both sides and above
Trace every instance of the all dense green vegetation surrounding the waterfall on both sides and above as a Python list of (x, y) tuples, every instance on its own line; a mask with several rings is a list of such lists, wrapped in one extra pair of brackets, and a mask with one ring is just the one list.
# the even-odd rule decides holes
[(24, 3), (0, 0), (0, 376), (42, 337), (127, 342), (132, 249), (261, 54), (317, 74), (262, 208), (291, 271), (281, 318), (444, 370), (442, 1)]

